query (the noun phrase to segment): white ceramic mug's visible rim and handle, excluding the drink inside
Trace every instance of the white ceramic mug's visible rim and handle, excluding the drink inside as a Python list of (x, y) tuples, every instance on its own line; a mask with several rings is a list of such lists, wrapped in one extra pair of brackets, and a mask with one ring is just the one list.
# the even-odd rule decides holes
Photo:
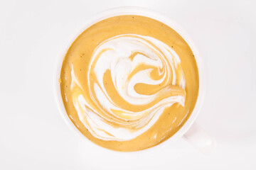
[[(176, 30), (176, 32), (181, 35), (181, 37), (186, 40), (188, 45), (191, 47), (191, 50), (193, 52), (193, 55), (196, 57), (196, 63), (198, 64), (198, 72), (199, 72), (199, 91), (198, 91), (198, 99), (196, 101), (196, 106), (193, 109), (193, 112), (191, 113), (190, 117), (186, 121), (186, 123), (181, 127), (178, 132), (176, 132), (173, 136), (171, 136), (168, 140), (161, 142), (161, 144), (156, 145), (154, 147), (151, 147), (149, 149), (141, 150), (141, 151), (136, 151), (136, 152), (151, 152), (154, 149), (159, 149), (161, 147), (164, 147), (166, 145), (171, 145), (171, 142), (174, 142), (176, 139), (179, 137), (183, 137), (186, 139), (191, 145), (194, 147), (198, 148), (201, 150), (201, 152), (207, 154), (210, 153), (211, 150), (215, 147), (215, 140), (213, 137), (210, 137), (207, 135), (207, 133), (197, 124), (195, 123), (196, 117), (198, 116), (198, 113), (201, 110), (201, 106), (203, 105), (203, 97), (206, 92), (206, 86), (205, 86), (205, 78), (203, 75), (203, 64), (201, 61), (201, 58), (198, 56), (198, 52), (196, 51), (196, 48), (194, 47), (193, 43), (191, 40), (188, 38), (188, 35), (183, 31), (183, 29), (178, 26), (177, 23), (174, 21), (171, 21), (169, 18), (166, 16), (157, 13), (156, 11), (151, 11), (146, 8), (138, 8), (138, 7), (122, 7), (122, 8), (113, 8), (107, 11), (103, 11), (101, 13), (98, 13), (96, 16), (93, 16), (90, 18), (87, 23), (82, 23), (85, 24), (84, 28), (80, 31), (82, 33), (84, 30), (92, 26), (94, 23), (97, 23), (101, 20), (104, 20), (106, 18), (110, 18), (112, 16), (122, 16), (122, 15), (138, 15), (138, 16), (146, 16), (149, 18), (156, 19), (157, 21), (161, 21), (162, 23), (165, 23), (167, 26), (173, 28)], [(161, 31), (161, 30), (160, 30)], [(80, 35), (78, 33), (78, 35)], [(73, 40), (70, 40), (70, 44), (68, 47), (64, 50), (63, 55), (60, 56), (60, 59), (58, 60), (57, 63), (57, 69), (56, 69), (56, 74), (54, 77), (54, 91), (55, 91), (55, 98), (58, 103), (58, 108), (60, 113), (63, 115), (63, 118), (65, 119), (65, 122), (70, 126), (70, 128), (73, 128), (74, 131), (78, 132), (80, 136), (84, 139), (86, 139), (87, 144), (86, 145), (94, 145), (95, 148), (97, 145), (95, 145), (93, 142), (90, 142), (90, 140), (87, 140), (87, 137), (82, 135), (82, 133), (78, 130), (78, 128), (73, 125), (72, 121), (68, 117), (68, 114), (65, 111), (63, 101), (61, 98), (60, 94), (60, 84), (58, 82), (58, 79), (60, 78), (60, 69), (63, 63), (63, 59), (65, 57), (66, 52), (68, 51), (68, 48), (72, 44), (72, 42), (78, 37), (78, 35), (75, 35)], [(97, 146), (98, 149), (100, 146)], [(103, 147), (100, 147), (100, 149), (105, 149)], [(107, 149), (109, 152), (116, 152), (112, 151), (110, 149)]]

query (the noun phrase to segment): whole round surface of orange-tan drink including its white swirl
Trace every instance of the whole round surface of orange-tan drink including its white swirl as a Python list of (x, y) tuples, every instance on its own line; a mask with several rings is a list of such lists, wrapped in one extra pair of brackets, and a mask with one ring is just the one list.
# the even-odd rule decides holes
[(175, 30), (145, 16), (95, 23), (70, 46), (60, 92), (73, 124), (102, 147), (129, 152), (174, 135), (198, 96), (198, 68)]

